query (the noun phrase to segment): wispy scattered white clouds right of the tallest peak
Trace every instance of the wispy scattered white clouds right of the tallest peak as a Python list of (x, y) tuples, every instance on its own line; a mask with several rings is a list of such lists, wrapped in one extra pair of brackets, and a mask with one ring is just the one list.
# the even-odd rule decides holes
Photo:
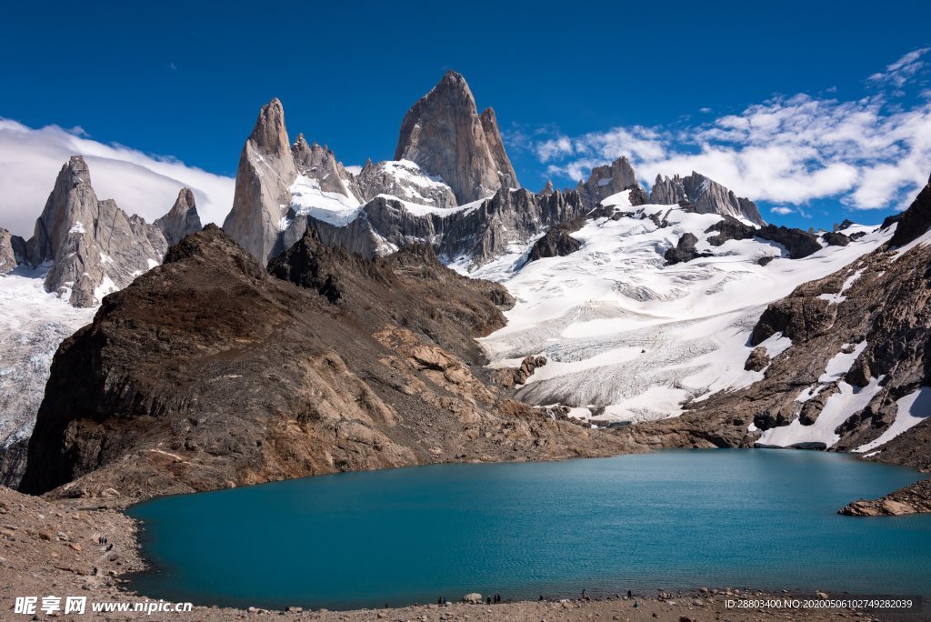
[(798, 212), (798, 206), (825, 197), (857, 210), (903, 207), (931, 172), (931, 98), (919, 93), (911, 106), (893, 106), (889, 89), (917, 83), (929, 49), (914, 50), (870, 76), (878, 92), (856, 101), (780, 96), (685, 128), (551, 136), (537, 141), (534, 152), (547, 174), (573, 181), (627, 156), (647, 184), (657, 174), (698, 170), (740, 196), (780, 209), (795, 206)]

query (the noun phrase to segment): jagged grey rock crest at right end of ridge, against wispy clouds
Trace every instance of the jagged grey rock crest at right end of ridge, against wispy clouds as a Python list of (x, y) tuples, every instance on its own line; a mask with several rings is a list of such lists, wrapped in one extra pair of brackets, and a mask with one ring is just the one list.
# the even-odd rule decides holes
[(687, 200), (692, 209), (700, 214), (721, 214), (743, 218), (750, 223), (765, 224), (756, 203), (749, 198), (738, 197), (722, 184), (717, 183), (694, 170), (688, 177), (679, 175), (668, 177), (656, 176), (650, 195), (650, 202), (659, 205), (671, 205)]

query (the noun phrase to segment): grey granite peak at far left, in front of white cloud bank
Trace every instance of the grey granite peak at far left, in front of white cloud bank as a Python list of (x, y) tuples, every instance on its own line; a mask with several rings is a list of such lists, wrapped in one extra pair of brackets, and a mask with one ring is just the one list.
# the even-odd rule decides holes
[(167, 249), (157, 226), (128, 216), (112, 199), (97, 198), (81, 156), (61, 168), (26, 244), (30, 264), (51, 263), (46, 290), (74, 306), (100, 303), (107, 293), (160, 264)]

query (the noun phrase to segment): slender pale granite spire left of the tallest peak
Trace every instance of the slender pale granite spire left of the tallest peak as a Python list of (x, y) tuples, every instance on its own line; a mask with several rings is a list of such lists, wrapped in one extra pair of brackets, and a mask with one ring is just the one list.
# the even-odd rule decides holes
[(223, 221), (223, 230), (263, 263), (277, 248), (297, 176), (284, 108), (273, 99), (262, 107), (242, 148), (233, 209)]

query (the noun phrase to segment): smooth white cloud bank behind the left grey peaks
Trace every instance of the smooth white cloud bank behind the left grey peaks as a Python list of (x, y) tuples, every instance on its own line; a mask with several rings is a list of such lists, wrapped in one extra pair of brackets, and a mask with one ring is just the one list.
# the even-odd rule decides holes
[(171, 209), (178, 191), (194, 192), (203, 223), (223, 223), (233, 205), (234, 180), (86, 138), (81, 128), (34, 129), (0, 118), (0, 227), (30, 237), (55, 178), (71, 156), (84, 156), (94, 191), (152, 222)]

